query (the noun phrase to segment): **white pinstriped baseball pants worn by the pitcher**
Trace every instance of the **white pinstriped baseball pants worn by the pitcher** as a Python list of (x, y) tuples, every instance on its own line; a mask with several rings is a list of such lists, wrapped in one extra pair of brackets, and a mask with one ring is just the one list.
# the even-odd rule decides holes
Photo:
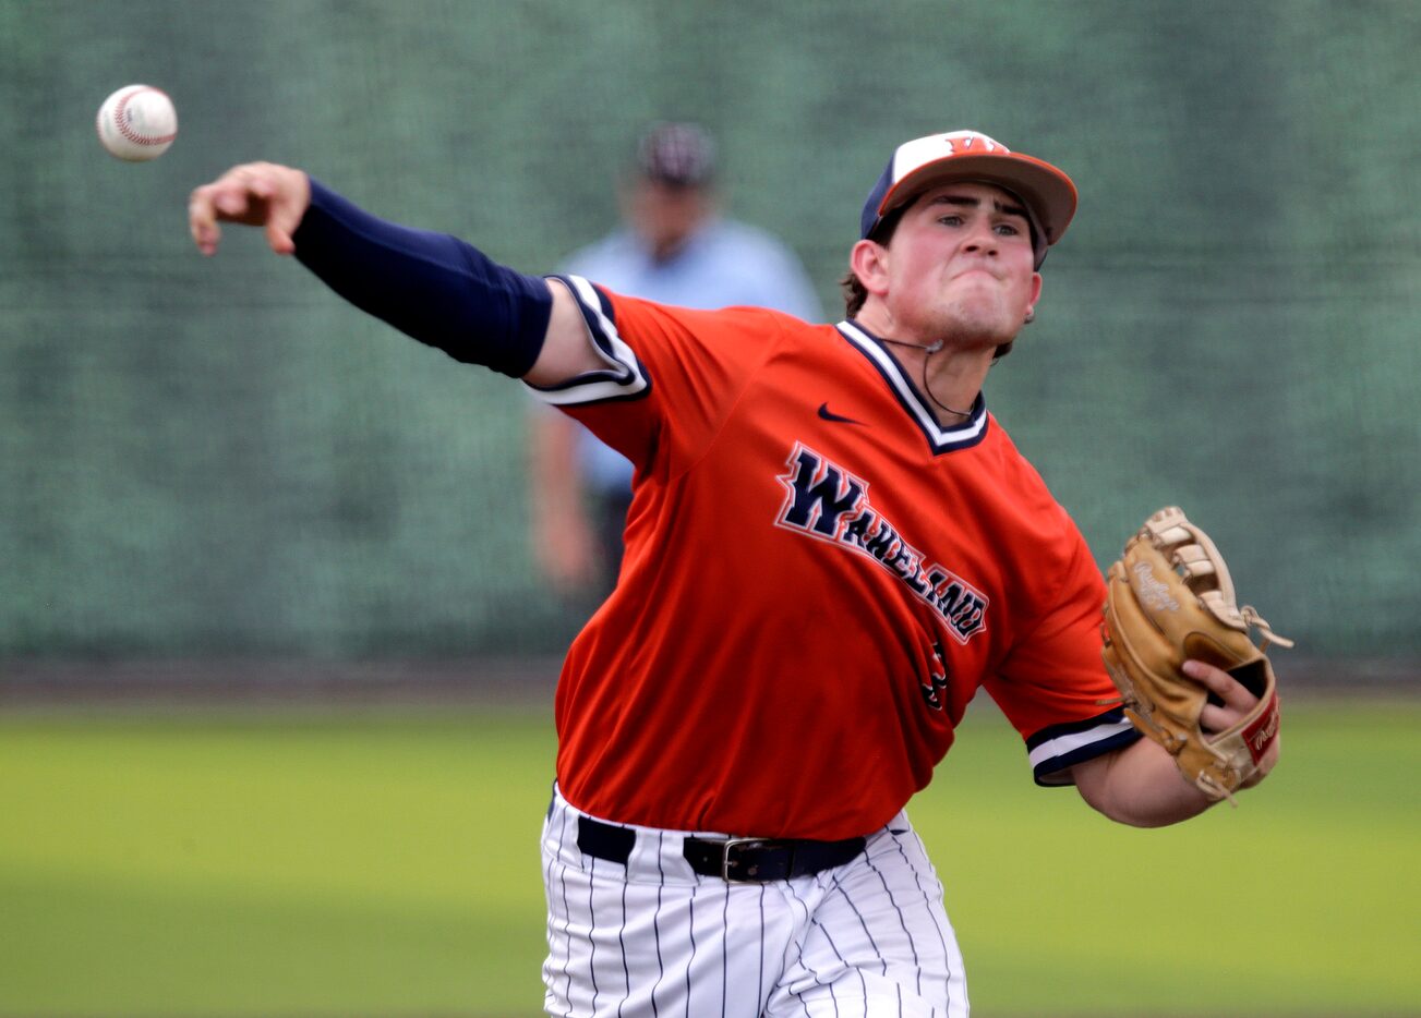
[(578, 816), (554, 794), (543, 828), (550, 1015), (966, 1018), (942, 885), (907, 814), (853, 862), (770, 883), (698, 876), (682, 831), (632, 828), (625, 866), (587, 856)]

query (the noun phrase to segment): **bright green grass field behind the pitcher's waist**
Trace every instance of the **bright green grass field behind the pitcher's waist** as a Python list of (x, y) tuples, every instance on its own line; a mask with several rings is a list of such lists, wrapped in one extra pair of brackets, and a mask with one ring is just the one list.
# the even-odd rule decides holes
[[(990, 710), (911, 812), (973, 1015), (1421, 1014), (1421, 706), (1133, 831)], [(534, 1015), (546, 710), (0, 714), (0, 1015)]]

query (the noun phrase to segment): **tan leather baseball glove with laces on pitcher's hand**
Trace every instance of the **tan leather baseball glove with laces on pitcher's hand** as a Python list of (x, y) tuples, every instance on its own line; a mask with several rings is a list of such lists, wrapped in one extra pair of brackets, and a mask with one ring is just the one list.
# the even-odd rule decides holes
[[(1260, 761), (1277, 738), (1277, 683), (1263, 652), (1292, 640), (1273, 633), (1250, 606), (1238, 606), (1219, 549), (1174, 505), (1130, 538), (1106, 585), (1101, 656), (1125, 714), (1209, 798), (1233, 801), (1235, 791), (1263, 779)], [(1191, 659), (1228, 672), (1258, 706), (1228, 731), (1201, 730), (1199, 713), (1212, 694), (1179, 670)]]

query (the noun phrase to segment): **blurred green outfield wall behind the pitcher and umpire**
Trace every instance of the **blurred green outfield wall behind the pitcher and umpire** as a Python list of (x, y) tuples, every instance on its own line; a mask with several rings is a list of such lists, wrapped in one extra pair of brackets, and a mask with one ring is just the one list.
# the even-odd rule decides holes
[[(1411, 0), (0, 0), (0, 657), (557, 652), (529, 399), (189, 190), (308, 169), (526, 271), (611, 227), (639, 126), (837, 310), (891, 148), (975, 126), (1080, 213), (989, 406), (1101, 562), (1161, 504), (1312, 656), (1421, 653), (1421, 6)], [(180, 136), (107, 156), (114, 88)]]

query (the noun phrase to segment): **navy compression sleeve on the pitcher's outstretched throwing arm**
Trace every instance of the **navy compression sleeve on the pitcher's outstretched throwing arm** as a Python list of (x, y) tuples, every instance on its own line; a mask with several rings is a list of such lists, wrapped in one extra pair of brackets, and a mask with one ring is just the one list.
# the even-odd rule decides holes
[(547, 283), (443, 233), (387, 223), (311, 179), (297, 260), (347, 301), (455, 361), (522, 378), (553, 314)]

